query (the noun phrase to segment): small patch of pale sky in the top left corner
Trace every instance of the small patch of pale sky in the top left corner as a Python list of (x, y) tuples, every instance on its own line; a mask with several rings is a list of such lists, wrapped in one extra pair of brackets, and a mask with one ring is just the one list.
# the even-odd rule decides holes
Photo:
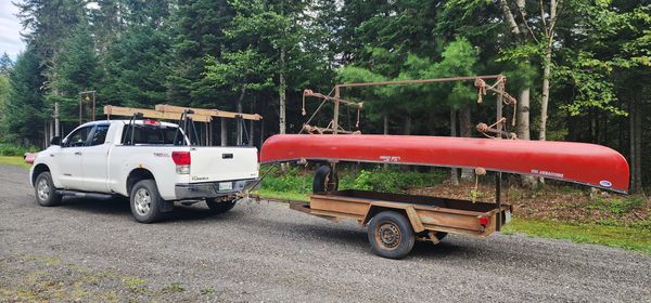
[(7, 52), (12, 60), (25, 49), (25, 42), (21, 40), (21, 22), (16, 14), (18, 8), (11, 0), (0, 0), (0, 55)]

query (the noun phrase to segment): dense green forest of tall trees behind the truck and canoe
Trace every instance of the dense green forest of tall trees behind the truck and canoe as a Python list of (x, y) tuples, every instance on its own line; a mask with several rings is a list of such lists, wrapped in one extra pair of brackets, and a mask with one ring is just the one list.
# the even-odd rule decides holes
[[(336, 83), (497, 75), (519, 140), (610, 146), (651, 189), (648, 0), (15, 0), (26, 49), (0, 58), (0, 143), (47, 146), (79, 104), (257, 113), (251, 143), (298, 133)], [(489, 83), (492, 84), (492, 83)], [(482, 136), (473, 81), (348, 88), (362, 133)], [(85, 105), (84, 110), (88, 110)], [(327, 126), (331, 104), (311, 124)], [(359, 118), (358, 118), (359, 115)], [(91, 115), (86, 113), (82, 120)], [(359, 121), (358, 121), (359, 119)], [(215, 141), (226, 124), (214, 123)], [(230, 139), (232, 140), (232, 137)]]

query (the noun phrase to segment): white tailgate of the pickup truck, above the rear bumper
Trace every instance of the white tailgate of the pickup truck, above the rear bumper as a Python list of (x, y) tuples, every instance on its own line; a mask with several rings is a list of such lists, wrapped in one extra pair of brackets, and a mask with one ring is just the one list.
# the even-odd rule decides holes
[(258, 176), (255, 147), (193, 147), (190, 182), (218, 182)]

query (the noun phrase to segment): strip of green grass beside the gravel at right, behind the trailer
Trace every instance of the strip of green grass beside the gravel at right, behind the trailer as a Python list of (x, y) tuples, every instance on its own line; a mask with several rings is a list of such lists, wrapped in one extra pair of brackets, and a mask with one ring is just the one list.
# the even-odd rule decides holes
[(651, 229), (599, 224), (570, 224), (553, 221), (514, 219), (502, 229), (505, 234), (567, 239), (574, 242), (624, 248), (651, 255)]

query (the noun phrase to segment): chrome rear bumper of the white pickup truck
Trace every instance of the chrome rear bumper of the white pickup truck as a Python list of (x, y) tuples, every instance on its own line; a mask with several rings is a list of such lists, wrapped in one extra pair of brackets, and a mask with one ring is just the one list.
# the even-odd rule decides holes
[[(232, 189), (219, 189), (219, 184), (231, 183), (230, 188)], [(259, 187), (258, 179), (248, 180), (232, 180), (221, 182), (206, 182), (206, 183), (193, 183), (193, 184), (177, 184), (175, 185), (175, 196), (178, 200), (186, 199), (203, 199), (203, 198), (217, 198), (233, 195), (243, 190), (253, 190)]]

